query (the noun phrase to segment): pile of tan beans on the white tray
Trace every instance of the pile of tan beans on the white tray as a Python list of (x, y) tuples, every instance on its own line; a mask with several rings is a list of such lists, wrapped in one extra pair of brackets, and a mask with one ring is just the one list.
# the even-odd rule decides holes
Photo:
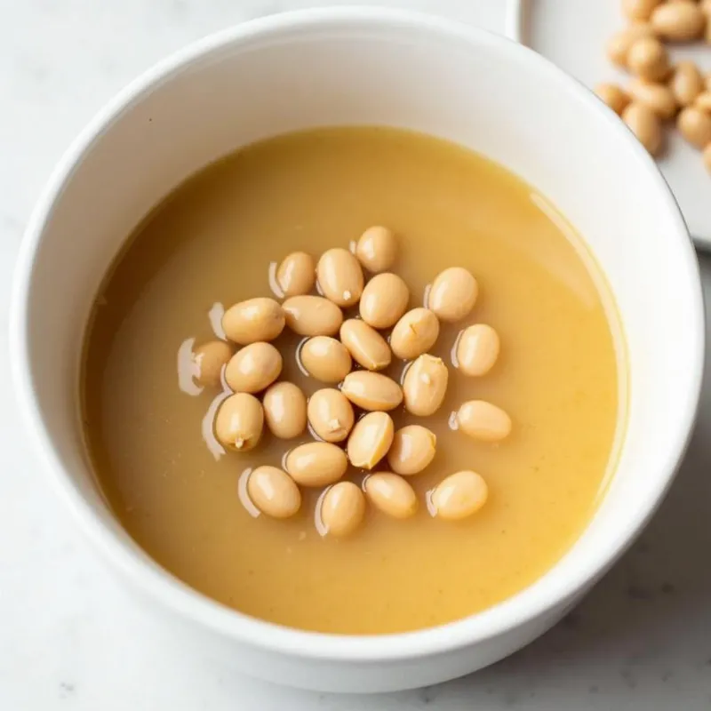
[(607, 56), (634, 78), (627, 90), (598, 84), (597, 95), (615, 111), (652, 156), (663, 149), (664, 122), (703, 151), (711, 172), (711, 73), (691, 61), (672, 66), (664, 42), (706, 38), (711, 44), (711, 0), (622, 0), (627, 28), (612, 36)]

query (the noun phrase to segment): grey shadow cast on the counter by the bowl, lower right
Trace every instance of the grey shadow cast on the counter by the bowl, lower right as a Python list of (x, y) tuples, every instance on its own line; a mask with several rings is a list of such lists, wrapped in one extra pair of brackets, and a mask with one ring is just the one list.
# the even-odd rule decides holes
[[(711, 255), (699, 260), (711, 314)], [(618, 675), (621, 686), (629, 690), (644, 686), (645, 675), (673, 683), (680, 673), (696, 670), (711, 681), (710, 601), (711, 350), (689, 451), (649, 526), (553, 630), (469, 677), (469, 683), (496, 693), (522, 677), (534, 685), (536, 680), (545, 684), (546, 678), (559, 679), (564, 667), (571, 673), (585, 670), (586, 678), (574, 686), (592, 693), (603, 692), (595, 684), (596, 671), (604, 681)]]

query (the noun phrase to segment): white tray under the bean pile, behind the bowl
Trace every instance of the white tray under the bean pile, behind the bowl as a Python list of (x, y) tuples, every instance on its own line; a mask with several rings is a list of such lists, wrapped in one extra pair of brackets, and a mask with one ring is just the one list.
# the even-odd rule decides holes
[[(512, 11), (518, 2), (523, 4), (521, 39), (537, 52), (587, 86), (601, 81), (627, 84), (625, 73), (613, 68), (604, 54), (608, 37), (625, 26), (619, 0), (509, 1)], [(516, 23), (509, 17), (507, 34), (515, 32)], [(711, 69), (711, 45), (674, 47), (671, 53), (673, 60), (691, 59), (706, 71)], [(711, 250), (711, 173), (704, 168), (699, 151), (679, 136), (673, 124), (667, 127), (666, 139), (667, 150), (659, 168), (675, 194), (694, 242)]]

